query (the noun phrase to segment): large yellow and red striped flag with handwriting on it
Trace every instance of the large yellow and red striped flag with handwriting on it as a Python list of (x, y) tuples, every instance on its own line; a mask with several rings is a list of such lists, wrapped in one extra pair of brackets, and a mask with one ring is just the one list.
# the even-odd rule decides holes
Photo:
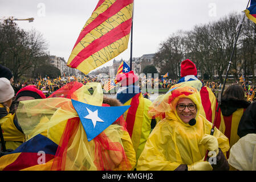
[(133, 0), (99, 0), (84, 25), (67, 65), (87, 74), (128, 47)]

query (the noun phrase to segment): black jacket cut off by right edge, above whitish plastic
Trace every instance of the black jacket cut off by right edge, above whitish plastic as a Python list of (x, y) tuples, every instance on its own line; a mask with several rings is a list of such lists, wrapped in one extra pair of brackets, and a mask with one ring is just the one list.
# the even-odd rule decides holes
[(238, 125), (237, 134), (240, 138), (249, 133), (256, 134), (256, 102), (247, 107)]

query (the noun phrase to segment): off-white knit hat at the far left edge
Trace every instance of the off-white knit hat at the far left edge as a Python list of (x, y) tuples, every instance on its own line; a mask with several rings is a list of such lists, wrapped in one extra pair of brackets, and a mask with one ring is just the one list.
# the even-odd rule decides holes
[(14, 89), (11, 86), (10, 80), (7, 78), (0, 78), (0, 103), (9, 101), (14, 97)]

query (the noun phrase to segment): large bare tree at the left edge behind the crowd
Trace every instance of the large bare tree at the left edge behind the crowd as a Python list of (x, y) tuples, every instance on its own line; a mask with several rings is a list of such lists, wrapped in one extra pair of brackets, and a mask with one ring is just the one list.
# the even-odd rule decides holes
[(13, 71), (14, 81), (46, 61), (47, 43), (39, 32), (17, 24), (0, 24), (0, 63)]

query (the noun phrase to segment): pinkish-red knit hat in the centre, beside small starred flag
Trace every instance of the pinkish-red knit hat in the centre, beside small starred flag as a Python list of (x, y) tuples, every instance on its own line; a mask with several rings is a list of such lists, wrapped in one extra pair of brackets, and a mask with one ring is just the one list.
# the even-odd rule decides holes
[(138, 81), (138, 77), (133, 73), (133, 71), (129, 71), (128, 73), (118, 74), (116, 76), (116, 81), (120, 82), (122, 86), (128, 86)]

